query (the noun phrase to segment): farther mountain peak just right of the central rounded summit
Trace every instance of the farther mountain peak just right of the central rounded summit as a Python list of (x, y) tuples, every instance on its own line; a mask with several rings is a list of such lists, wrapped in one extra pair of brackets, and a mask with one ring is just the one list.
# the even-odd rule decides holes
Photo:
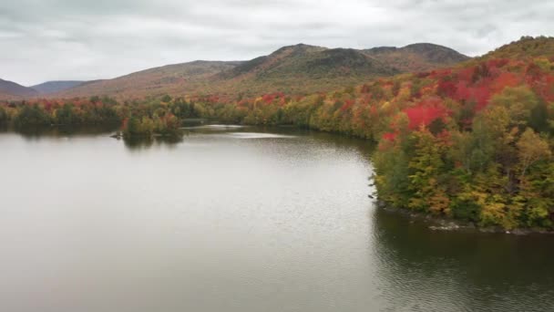
[(449, 47), (429, 43), (405, 47), (374, 47), (365, 49), (364, 53), (403, 72), (428, 71), (451, 66), (470, 58)]

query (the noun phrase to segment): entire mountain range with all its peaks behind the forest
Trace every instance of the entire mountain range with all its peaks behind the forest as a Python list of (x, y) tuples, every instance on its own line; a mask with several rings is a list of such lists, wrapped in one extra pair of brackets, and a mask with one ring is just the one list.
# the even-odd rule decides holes
[(446, 67), (467, 59), (451, 48), (433, 44), (362, 50), (299, 44), (248, 61), (194, 61), (151, 68), (88, 82), (51, 96), (137, 99), (163, 94), (307, 94), (353, 86), (372, 78)]

